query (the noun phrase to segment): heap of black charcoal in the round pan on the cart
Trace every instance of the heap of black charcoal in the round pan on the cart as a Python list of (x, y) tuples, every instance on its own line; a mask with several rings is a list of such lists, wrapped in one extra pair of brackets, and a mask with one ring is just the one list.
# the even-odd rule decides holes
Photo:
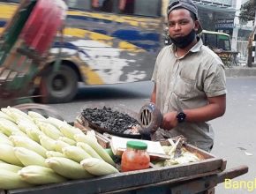
[(127, 129), (139, 124), (135, 118), (106, 107), (85, 108), (82, 116), (90, 123), (117, 133), (124, 133)]

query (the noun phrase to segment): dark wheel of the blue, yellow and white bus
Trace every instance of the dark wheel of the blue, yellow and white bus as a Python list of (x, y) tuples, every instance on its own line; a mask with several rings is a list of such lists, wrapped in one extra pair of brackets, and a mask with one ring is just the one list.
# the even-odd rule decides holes
[(49, 66), (41, 77), (40, 94), (43, 103), (72, 101), (77, 92), (78, 76), (67, 65), (62, 64), (58, 71)]

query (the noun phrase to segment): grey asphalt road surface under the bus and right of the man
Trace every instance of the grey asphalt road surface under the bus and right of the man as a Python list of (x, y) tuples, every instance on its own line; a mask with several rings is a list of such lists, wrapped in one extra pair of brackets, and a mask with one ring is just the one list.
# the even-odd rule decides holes
[[(215, 129), (212, 153), (228, 160), (227, 168), (247, 165), (249, 172), (234, 179), (237, 183), (232, 183), (232, 190), (228, 188), (230, 185), (222, 183), (216, 193), (256, 193), (256, 78), (227, 78), (227, 87), (226, 114), (210, 122)], [(91, 102), (105, 102), (110, 106), (122, 104), (138, 112), (149, 101), (152, 89), (151, 82), (82, 87), (75, 101), (52, 106), (69, 122)], [(243, 181), (245, 185), (237, 186)]]

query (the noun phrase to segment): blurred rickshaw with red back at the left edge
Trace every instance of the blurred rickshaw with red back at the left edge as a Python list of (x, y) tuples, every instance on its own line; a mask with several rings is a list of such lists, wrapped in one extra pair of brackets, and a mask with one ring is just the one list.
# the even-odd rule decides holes
[[(0, 107), (30, 100), (34, 79), (46, 68), (49, 48), (64, 26), (62, 0), (21, 0), (0, 34)], [(59, 35), (61, 37), (61, 35)], [(48, 109), (25, 104), (19, 108)]]

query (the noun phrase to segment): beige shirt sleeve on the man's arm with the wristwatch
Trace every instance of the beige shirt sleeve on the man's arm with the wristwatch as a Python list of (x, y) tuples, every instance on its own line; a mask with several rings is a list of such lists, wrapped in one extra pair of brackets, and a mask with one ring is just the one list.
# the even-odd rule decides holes
[(207, 97), (215, 97), (227, 93), (224, 65), (213, 63), (207, 71), (204, 81), (204, 89)]

